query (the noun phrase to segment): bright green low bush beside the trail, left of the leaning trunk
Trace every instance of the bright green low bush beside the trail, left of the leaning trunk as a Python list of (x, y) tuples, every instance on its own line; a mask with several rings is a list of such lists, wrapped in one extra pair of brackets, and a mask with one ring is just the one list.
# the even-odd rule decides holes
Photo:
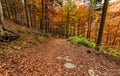
[(94, 48), (95, 47), (95, 43), (93, 41), (83, 37), (82, 35), (69, 37), (68, 41), (70, 41), (74, 45), (78, 45), (78, 46), (85, 46), (85, 47), (88, 47), (88, 48)]

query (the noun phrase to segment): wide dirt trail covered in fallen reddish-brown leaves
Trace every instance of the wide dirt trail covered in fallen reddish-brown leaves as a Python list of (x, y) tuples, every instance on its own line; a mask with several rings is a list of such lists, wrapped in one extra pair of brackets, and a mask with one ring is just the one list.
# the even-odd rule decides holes
[[(0, 61), (0, 76), (120, 76), (120, 66), (101, 54), (87, 53), (65, 39), (52, 39), (23, 51), (8, 53)], [(75, 65), (66, 68), (65, 63)], [(91, 75), (92, 76), (92, 75)]]

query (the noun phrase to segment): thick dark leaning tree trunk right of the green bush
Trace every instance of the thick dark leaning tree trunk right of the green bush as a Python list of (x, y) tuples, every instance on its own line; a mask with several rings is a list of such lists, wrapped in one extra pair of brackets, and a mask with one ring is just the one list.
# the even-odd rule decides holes
[(101, 42), (102, 42), (102, 36), (103, 36), (103, 31), (104, 31), (108, 3), (109, 3), (109, 0), (104, 0), (101, 23), (100, 23), (100, 28), (99, 28), (99, 34), (98, 34), (98, 38), (97, 38), (97, 42), (96, 42), (96, 49), (97, 50), (99, 50), (99, 46), (101, 45)]

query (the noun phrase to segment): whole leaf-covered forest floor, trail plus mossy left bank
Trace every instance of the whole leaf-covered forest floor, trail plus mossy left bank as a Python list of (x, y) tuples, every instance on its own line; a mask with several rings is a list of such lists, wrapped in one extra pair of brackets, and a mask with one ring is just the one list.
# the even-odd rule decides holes
[[(62, 38), (36, 39), (35, 30), (11, 21), (7, 29), (20, 34), (12, 42), (0, 42), (0, 76), (120, 76), (120, 62), (72, 45)], [(43, 38), (42, 38), (43, 39)]]

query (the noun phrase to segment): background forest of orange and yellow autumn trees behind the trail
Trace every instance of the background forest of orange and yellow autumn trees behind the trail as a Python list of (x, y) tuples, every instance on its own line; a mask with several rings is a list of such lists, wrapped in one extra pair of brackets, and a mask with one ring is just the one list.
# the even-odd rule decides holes
[[(81, 0), (2, 0), (4, 16), (29, 28), (61, 37), (87, 37), (89, 4), (76, 5)], [(117, 4), (119, 3), (113, 3)], [(109, 4), (102, 44), (120, 48), (120, 10)], [(112, 7), (112, 8), (111, 8)], [(100, 25), (101, 10), (91, 11), (90, 39), (96, 42)]]

